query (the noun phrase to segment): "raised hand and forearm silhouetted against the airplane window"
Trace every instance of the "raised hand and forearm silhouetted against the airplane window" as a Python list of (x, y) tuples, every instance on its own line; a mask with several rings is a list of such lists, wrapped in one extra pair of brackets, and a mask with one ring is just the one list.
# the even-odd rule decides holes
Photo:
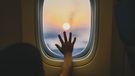
[(64, 40), (58, 35), (61, 42), (61, 47), (55, 44), (59, 51), (64, 55), (64, 64), (60, 76), (71, 76), (72, 75), (72, 52), (73, 46), (76, 42), (76, 37), (72, 41), (72, 33), (69, 34), (69, 40), (67, 40), (66, 32), (63, 32)]

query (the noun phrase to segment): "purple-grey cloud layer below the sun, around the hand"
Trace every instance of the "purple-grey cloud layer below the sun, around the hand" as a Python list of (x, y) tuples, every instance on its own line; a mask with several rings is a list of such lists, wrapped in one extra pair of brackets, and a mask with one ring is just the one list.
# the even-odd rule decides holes
[[(57, 35), (60, 34), (63, 38), (62, 32), (63, 30), (56, 29), (55, 27), (46, 27), (43, 30), (43, 37), (44, 42), (48, 47), (49, 51), (55, 55), (63, 57), (63, 55), (59, 52), (59, 50), (55, 46), (55, 44), (61, 44)], [(69, 32), (73, 33), (72, 37), (77, 38), (72, 54), (73, 56), (76, 56), (84, 51), (89, 42), (90, 27), (87, 25), (87, 27), (84, 28), (71, 29), (67, 31), (67, 37), (69, 35)]]

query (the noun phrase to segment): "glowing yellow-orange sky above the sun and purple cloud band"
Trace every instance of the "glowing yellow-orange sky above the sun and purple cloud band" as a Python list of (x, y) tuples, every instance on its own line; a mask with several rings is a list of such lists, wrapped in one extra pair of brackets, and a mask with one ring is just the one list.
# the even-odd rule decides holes
[[(68, 22), (70, 27), (91, 24), (89, 0), (45, 0), (43, 8), (43, 24), (53, 24), (63, 28)], [(83, 26), (84, 27), (84, 26)]]

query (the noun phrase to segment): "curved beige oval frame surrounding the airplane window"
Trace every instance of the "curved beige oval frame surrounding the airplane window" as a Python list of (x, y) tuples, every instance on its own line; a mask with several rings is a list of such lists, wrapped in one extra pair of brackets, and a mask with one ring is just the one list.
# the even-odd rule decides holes
[[(89, 42), (87, 44), (87, 47), (85, 50), (88, 50), (87, 53), (79, 58), (75, 58), (73, 59), (73, 66), (82, 66), (85, 65), (87, 63), (89, 63), (95, 56), (96, 53), (96, 45), (98, 44), (98, 0), (89, 0), (90, 1), (90, 5), (91, 5), (91, 31), (90, 32), (94, 32), (93, 34), (90, 34), (92, 36), (92, 39), (90, 39), (89, 37)], [(44, 0), (36, 0), (35, 1), (35, 5), (36, 5), (36, 10), (35, 10), (35, 22), (36, 22), (36, 42), (37, 42), (37, 46), (38, 48), (41, 50), (41, 55), (42, 55), (42, 60), (43, 62), (45, 62), (48, 65), (52, 65), (52, 66), (56, 66), (56, 67), (60, 67), (63, 63), (62, 59), (58, 59), (58, 58), (54, 58), (48, 55), (47, 52), (45, 52), (45, 48), (47, 48), (45, 46), (45, 44), (43, 43), (43, 30), (41, 29), (41, 27), (39, 25), (42, 25), (42, 9), (43, 9), (43, 3)], [(95, 13), (95, 14), (94, 14)], [(90, 42), (90, 40), (92, 42)], [(88, 45), (92, 44), (90, 47)], [(45, 47), (45, 48), (44, 48)]]

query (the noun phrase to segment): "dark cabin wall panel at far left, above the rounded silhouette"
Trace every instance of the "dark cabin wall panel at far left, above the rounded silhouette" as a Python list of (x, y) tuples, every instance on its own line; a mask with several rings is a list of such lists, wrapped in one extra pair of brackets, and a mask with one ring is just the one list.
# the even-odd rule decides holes
[(0, 47), (21, 42), (21, 1), (0, 0)]

